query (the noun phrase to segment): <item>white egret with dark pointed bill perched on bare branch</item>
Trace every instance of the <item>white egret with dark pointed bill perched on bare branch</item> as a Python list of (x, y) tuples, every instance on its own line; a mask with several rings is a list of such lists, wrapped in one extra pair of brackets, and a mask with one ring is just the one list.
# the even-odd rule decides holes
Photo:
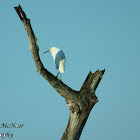
[(44, 53), (47, 53), (47, 52), (51, 52), (56, 69), (59, 69), (57, 76), (60, 73), (60, 80), (61, 80), (61, 73), (64, 73), (65, 71), (65, 61), (66, 61), (65, 54), (63, 53), (61, 49), (56, 48), (56, 47), (52, 47), (50, 48), (50, 50)]

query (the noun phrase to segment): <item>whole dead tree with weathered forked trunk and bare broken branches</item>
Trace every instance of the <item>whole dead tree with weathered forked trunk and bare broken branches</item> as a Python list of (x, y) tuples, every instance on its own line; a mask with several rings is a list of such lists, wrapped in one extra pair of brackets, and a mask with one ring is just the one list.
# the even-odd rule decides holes
[(29, 40), (29, 49), (36, 64), (37, 72), (39, 72), (49, 84), (65, 98), (70, 109), (69, 122), (61, 140), (79, 140), (89, 113), (93, 106), (98, 102), (95, 90), (102, 79), (105, 70), (97, 70), (95, 73), (90, 71), (80, 91), (71, 89), (44, 68), (39, 57), (37, 38), (31, 27), (30, 19), (26, 17), (25, 12), (20, 5), (14, 8), (26, 30)]

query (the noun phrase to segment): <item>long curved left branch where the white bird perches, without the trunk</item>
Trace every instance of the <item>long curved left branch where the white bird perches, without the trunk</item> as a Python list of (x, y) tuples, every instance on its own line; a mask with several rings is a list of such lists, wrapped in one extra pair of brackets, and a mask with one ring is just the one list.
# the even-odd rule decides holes
[(61, 96), (63, 96), (64, 98), (72, 97), (73, 95), (71, 95), (70, 93), (76, 91), (65, 85), (62, 81), (57, 79), (57, 77), (55, 77), (52, 73), (44, 68), (39, 57), (39, 46), (37, 45), (37, 38), (31, 27), (30, 20), (26, 17), (25, 12), (22, 10), (20, 5), (14, 8), (19, 15), (27, 33), (29, 40), (29, 49), (36, 64), (37, 72), (39, 72), (56, 89), (56, 91), (61, 94)]

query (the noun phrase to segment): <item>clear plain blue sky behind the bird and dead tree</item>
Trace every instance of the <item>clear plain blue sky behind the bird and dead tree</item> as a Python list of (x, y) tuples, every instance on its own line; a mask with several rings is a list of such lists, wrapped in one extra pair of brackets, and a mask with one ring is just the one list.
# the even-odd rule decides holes
[(44, 67), (57, 75), (51, 53), (43, 52), (65, 53), (65, 84), (80, 90), (89, 71), (106, 69), (80, 140), (139, 140), (139, 0), (1, 0), (0, 139), (8, 133), (4, 139), (59, 140), (70, 114), (36, 71), (18, 4), (31, 20)]

